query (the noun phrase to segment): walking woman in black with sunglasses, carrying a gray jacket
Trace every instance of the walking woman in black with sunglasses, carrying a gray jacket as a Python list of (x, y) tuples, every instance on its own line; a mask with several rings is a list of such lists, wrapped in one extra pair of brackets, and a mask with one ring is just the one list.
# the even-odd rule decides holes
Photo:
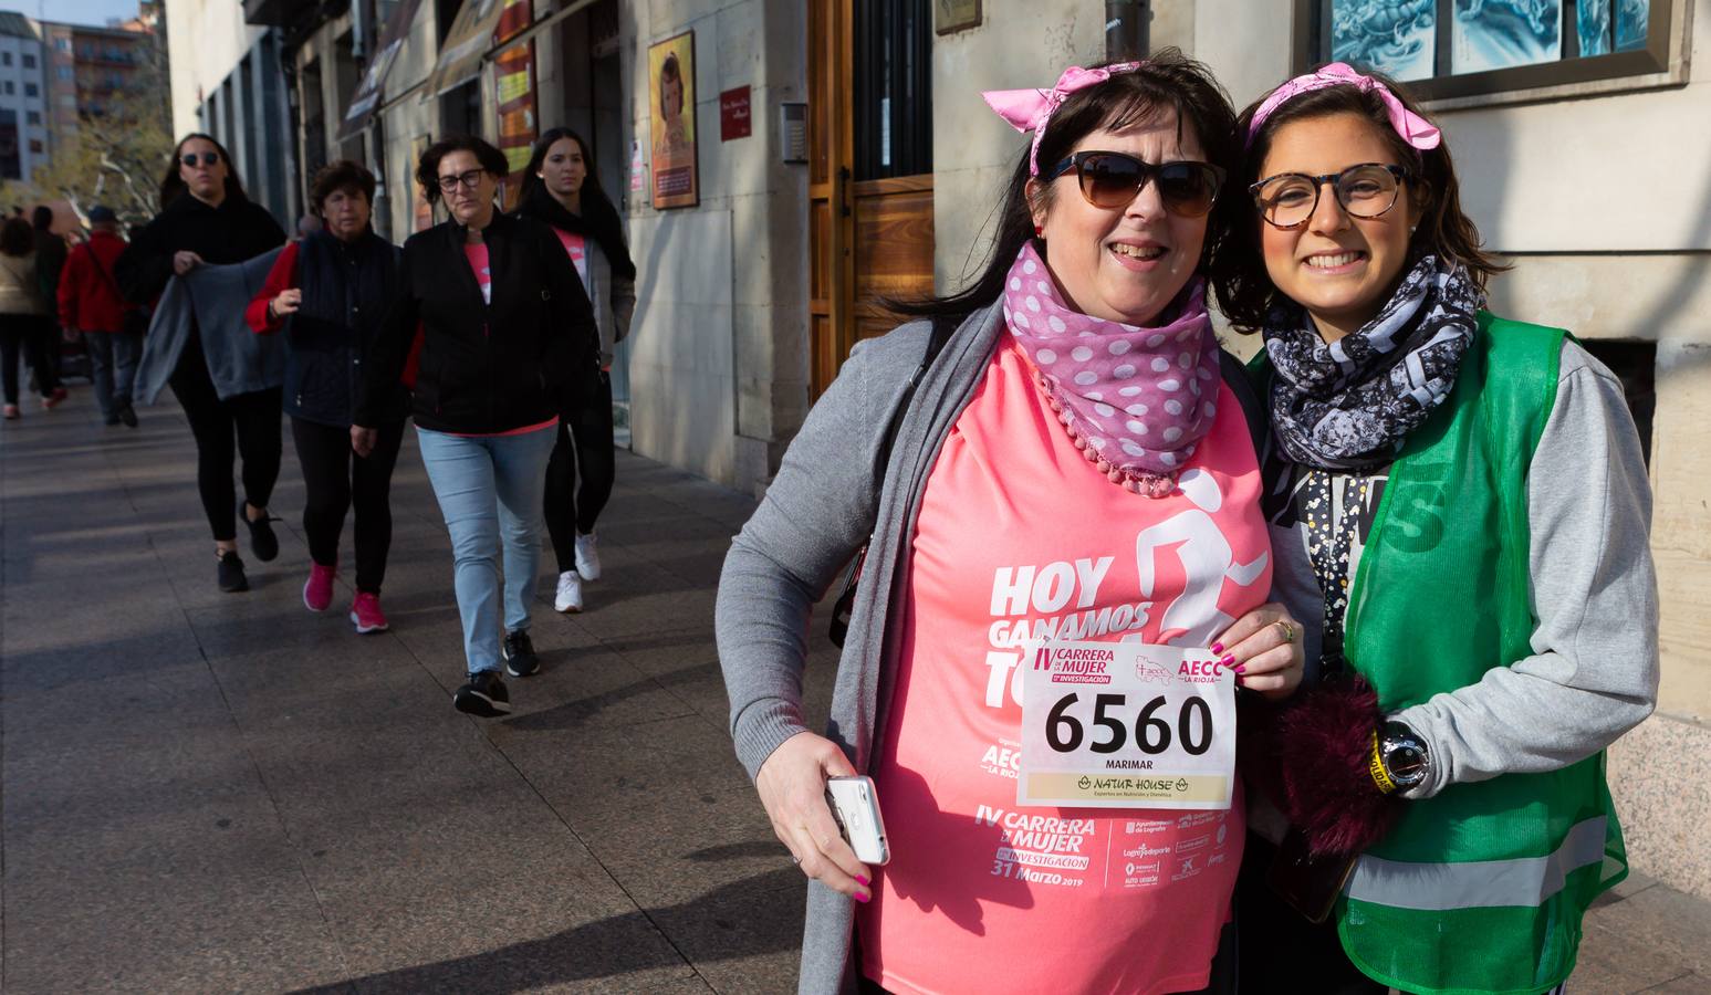
[[(284, 241), (286, 233), (274, 215), (245, 197), (226, 149), (210, 135), (188, 135), (178, 142), (161, 180), (161, 214), (118, 256), (113, 277), (127, 299), (151, 304), (175, 275), (186, 277), (202, 265), (248, 262)], [(193, 316), (188, 318), (183, 349), (168, 378), (197, 439), (197, 491), (214, 532), (222, 592), (250, 590), (238, 556), (240, 511), (250, 530), (255, 557), (265, 562), (279, 556), (279, 537), (274, 535), (267, 503), (279, 480), (282, 451), (282, 371), (248, 369), (253, 366), (248, 362), (253, 359), (248, 352), (253, 349), (248, 342), (253, 335), (243, 325), (248, 296), (243, 297), (233, 306), (229, 327), (204, 328)], [(210, 335), (219, 339), (205, 340)], [(233, 362), (245, 369), (234, 369)], [(139, 390), (140, 393), (144, 392)], [(231, 479), (238, 455), (243, 456), (241, 504)]]

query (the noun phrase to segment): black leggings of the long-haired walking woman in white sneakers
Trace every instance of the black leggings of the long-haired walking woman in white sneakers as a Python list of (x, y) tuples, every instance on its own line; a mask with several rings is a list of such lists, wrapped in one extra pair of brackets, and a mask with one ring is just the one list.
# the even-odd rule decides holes
[[(575, 443), (571, 443), (575, 438)], [(582, 487), (577, 487), (577, 475)], [(558, 422), (558, 443), (546, 463), (546, 530), (553, 537), (558, 573), (577, 569), (577, 533), (594, 532), (594, 521), (613, 496), (618, 455), (613, 451), (613, 376), (601, 373), (601, 390), (575, 412), (568, 429)]]

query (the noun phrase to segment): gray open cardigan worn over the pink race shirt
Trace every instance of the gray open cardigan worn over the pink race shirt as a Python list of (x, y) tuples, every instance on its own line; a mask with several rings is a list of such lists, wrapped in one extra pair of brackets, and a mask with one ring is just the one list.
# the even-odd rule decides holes
[[(779, 744), (808, 732), (802, 665), (809, 610), (871, 533), (826, 730), (857, 771), (869, 769), (874, 730), (885, 723), (881, 667), (897, 656), (890, 643), (898, 633), (888, 633), (886, 621), (907, 537), (927, 470), (986, 373), (1001, 320), (996, 304), (975, 311), (946, 342), (915, 390), (878, 487), (874, 462), (885, 431), (932, 327), (914, 321), (857, 344), (731, 544), (715, 609), (719, 663), (731, 694), (731, 735), (751, 778)], [(856, 990), (854, 910), (852, 899), (809, 882), (801, 992)]]

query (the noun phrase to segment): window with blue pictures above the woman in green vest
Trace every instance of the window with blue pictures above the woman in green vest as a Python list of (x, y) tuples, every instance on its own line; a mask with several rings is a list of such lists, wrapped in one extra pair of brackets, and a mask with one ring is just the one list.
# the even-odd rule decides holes
[[(1295, 0), (1299, 68), (1382, 70), (1424, 99), (1670, 74), (1675, 0)], [(1668, 80), (1665, 80), (1668, 82)]]

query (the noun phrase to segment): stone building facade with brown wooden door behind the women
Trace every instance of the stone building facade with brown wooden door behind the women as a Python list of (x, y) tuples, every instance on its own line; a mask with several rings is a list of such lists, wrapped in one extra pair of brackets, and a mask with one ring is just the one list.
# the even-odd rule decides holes
[(435, 137), (515, 154), (554, 125), (587, 135), (640, 270), (616, 371), (633, 448), (748, 491), (850, 345), (895, 323), (886, 297), (979, 272), (1025, 142), (980, 91), (1162, 46), (1210, 63), (1237, 106), (1333, 58), (1398, 70), (1514, 263), (1494, 309), (1571, 328), (1629, 388), (1663, 686), (1612, 749), (1612, 785), (1636, 867), (1711, 898), (1694, 845), (1711, 795), (1682, 790), (1711, 774), (1711, 0), (358, 0), (313, 24), (250, 0), (267, 31), (234, 7), (168, 7), (175, 46), (197, 39), (193, 67), (175, 56), (180, 130), (270, 121), (275, 38), (294, 197), (313, 162), (361, 157), (394, 239), (435, 221), (411, 180)]

